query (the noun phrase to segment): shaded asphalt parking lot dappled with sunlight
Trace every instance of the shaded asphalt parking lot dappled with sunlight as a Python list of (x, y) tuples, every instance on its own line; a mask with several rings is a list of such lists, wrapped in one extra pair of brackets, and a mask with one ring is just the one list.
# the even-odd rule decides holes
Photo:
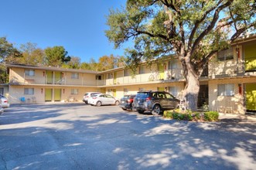
[(196, 123), (118, 106), (12, 105), (0, 169), (255, 169), (254, 121)]

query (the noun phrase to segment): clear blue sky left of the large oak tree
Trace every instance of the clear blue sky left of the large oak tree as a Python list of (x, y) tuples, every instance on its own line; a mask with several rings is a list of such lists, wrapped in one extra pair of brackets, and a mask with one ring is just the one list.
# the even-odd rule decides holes
[(114, 49), (104, 30), (110, 8), (125, 6), (125, 0), (0, 0), (0, 37), (16, 47), (26, 42), (39, 48), (64, 46), (81, 62), (107, 55), (124, 55)]

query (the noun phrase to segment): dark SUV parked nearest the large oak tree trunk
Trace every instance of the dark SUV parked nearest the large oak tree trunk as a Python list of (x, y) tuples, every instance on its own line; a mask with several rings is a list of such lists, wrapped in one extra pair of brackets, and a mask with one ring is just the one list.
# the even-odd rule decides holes
[(152, 114), (160, 114), (162, 110), (178, 107), (179, 100), (165, 91), (140, 91), (134, 98), (134, 107), (139, 114), (151, 111)]

